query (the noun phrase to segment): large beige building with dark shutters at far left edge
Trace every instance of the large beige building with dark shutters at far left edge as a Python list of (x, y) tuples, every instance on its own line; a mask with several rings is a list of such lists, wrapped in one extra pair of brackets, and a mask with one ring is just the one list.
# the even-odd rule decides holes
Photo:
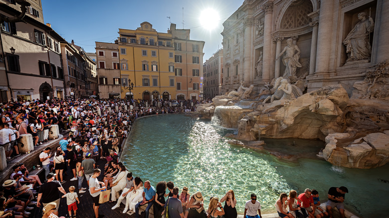
[[(20, 5), (0, 0), (0, 13), (14, 17)], [(43, 23), (40, 0), (27, 0), (24, 22), (2, 22), (0, 37), (1, 102), (62, 99), (63, 69), (59, 43), (64, 39)]]

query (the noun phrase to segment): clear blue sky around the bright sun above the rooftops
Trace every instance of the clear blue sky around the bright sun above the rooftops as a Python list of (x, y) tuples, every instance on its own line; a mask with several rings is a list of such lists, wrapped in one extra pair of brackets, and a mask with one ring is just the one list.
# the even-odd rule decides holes
[[(43, 19), (69, 43), (95, 51), (95, 41), (113, 43), (119, 28), (136, 29), (148, 21), (158, 32), (167, 32), (170, 21), (176, 28), (191, 29), (190, 38), (205, 41), (204, 58), (222, 48), (222, 23), (243, 0), (42, 0)], [(200, 14), (211, 8), (219, 14), (216, 26), (206, 28)], [(169, 18), (167, 18), (170, 16)]]

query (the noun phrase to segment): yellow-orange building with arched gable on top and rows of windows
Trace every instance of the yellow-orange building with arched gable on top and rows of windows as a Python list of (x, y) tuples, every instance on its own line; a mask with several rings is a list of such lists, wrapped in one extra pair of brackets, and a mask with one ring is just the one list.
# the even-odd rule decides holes
[[(143, 22), (136, 30), (119, 29), (121, 98), (176, 98), (172, 34), (152, 27)], [(125, 88), (131, 83), (134, 89), (129, 92)]]

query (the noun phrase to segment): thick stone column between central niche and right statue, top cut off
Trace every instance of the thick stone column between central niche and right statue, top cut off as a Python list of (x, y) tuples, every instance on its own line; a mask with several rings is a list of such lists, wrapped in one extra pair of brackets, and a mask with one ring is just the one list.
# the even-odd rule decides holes
[(321, 1), (315, 72), (328, 72), (331, 57), (334, 1)]

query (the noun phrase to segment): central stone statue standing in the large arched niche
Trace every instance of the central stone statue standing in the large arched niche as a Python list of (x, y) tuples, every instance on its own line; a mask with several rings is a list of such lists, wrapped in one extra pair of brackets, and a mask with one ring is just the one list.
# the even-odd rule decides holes
[[(282, 63), (286, 66), (283, 78), (288, 78), (290, 76), (296, 76), (296, 69), (298, 67), (302, 67), (299, 59), (300, 59), (300, 49), (297, 45), (293, 44), (293, 39), (289, 38), (286, 40), (287, 45), (284, 50), (277, 56), (276, 60), (281, 57), (282, 54), (285, 53), (282, 58)], [(296, 53), (297, 51), (297, 53)]]

